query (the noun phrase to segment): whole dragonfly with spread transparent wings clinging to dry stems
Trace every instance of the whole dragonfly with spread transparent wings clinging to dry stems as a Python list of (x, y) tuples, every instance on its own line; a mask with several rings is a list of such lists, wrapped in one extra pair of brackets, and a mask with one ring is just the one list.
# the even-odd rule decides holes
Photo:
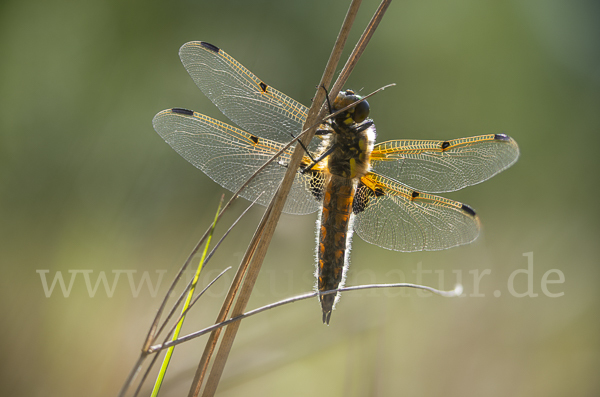
[[(259, 79), (215, 45), (184, 44), (181, 61), (198, 88), (234, 127), (184, 108), (159, 112), (156, 132), (188, 162), (232, 192), (302, 131), (308, 108)], [(330, 112), (362, 97), (345, 90)], [(363, 240), (402, 251), (434, 251), (474, 241), (475, 211), (437, 196), (481, 183), (510, 167), (519, 147), (505, 134), (449, 140), (398, 139), (375, 143), (376, 130), (362, 101), (324, 121), (295, 175), (283, 211), (317, 220), (319, 292), (343, 287), (355, 231)], [(294, 146), (283, 150), (241, 191), (268, 205), (287, 171)], [(339, 292), (320, 294), (329, 324)]]

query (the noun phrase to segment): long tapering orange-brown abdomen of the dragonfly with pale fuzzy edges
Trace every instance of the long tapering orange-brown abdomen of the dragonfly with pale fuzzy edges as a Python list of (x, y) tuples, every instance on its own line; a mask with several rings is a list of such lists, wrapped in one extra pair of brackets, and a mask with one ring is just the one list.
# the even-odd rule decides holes
[[(352, 179), (337, 175), (331, 175), (325, 187), (318, 230), (319, 291), (329, 291), (343, 286), (352, 239), (350, 223), (355, 189), (355, 182)], [(320, 297), (324, 323), (329, 324), (337, 296), (338, 294), (329, 294)]]

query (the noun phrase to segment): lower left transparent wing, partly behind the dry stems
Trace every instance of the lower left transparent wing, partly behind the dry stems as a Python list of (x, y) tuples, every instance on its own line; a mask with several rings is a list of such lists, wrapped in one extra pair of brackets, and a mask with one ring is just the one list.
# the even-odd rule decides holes
[[(232, 192), (284, 146), (185, 109), (163, 110), (154, 116), (152, 125), (177, 153)], [(254, 201), (260, 195), (258, 203), (267, 205), (283, 179), (291, 153), (292, 149), (288, 149), (265, 168), (240, 196)], [(289, 214), (316, 211), (320, 204), (311, 189), (315, 189), (319, 177), (316, 172), (298, 173), (283, 211)]]

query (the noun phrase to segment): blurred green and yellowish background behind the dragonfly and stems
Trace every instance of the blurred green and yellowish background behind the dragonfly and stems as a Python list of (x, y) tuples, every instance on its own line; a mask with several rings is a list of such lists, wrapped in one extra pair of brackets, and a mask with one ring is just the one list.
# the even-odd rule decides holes
[[(365, 0), (346, 55), (377, 2)], [(181, 65), (213, 43), (309, 105), (347, 2), (5, 1), (0, 5), (0, 394), (115, 395), (222, 188), (154, 132), (186, 107), (227, 121)], [(396, 1), (348, 87), (371, 92), (378, 140), (507, 133), (509, 170), (446, 195), (483, 230), (468, 246), (403, 254), (355, 237), (348, 284), (421, 281), (465, 296), (345, 294), (331, 325), (308, 300), (244, 321), (220, 396), (592, 396), (600, 392), (600, 6), (590, 1)], [(341, 66), (340, 66), (341, 68)], [(217, 232), (246, 206), (239, 201)], [(236, 267), (262, 208), (215, 256)], [(311, 290), (315, 216), (284, 215), (249, 308)], [(530, 280), (524, 273), (532, 255)], [(418, 280), (417, 270), (423, 273)], [(564, 275), (558, 280), (555, 269)], [(44, 293), (38, 270), (144, 272), (134, 296)], [(159, 272), (159, 273), (157, 273)], [(474, 276), (483, 272), (477, 287)], [(517, 297), (532, 288), (537, 297)], [(184, 332), (210, 325), (230, 272)], [(531, 285), (529, 285), (531, 282)], [(176, 350), (162, 395), (185, 395), (205, 339)]]

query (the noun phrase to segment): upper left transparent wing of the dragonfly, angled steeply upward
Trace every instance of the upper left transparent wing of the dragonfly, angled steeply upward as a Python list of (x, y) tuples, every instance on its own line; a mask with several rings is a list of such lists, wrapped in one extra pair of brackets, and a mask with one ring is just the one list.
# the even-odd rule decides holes
[[(225, 51), (202, 41), (179, 49), (183, 66), (202, 92), (239, 127), (287, 143), (301, 130), (308, 108), (264, 83)], [(313, 146), (318, 145), (318, 139)]]

